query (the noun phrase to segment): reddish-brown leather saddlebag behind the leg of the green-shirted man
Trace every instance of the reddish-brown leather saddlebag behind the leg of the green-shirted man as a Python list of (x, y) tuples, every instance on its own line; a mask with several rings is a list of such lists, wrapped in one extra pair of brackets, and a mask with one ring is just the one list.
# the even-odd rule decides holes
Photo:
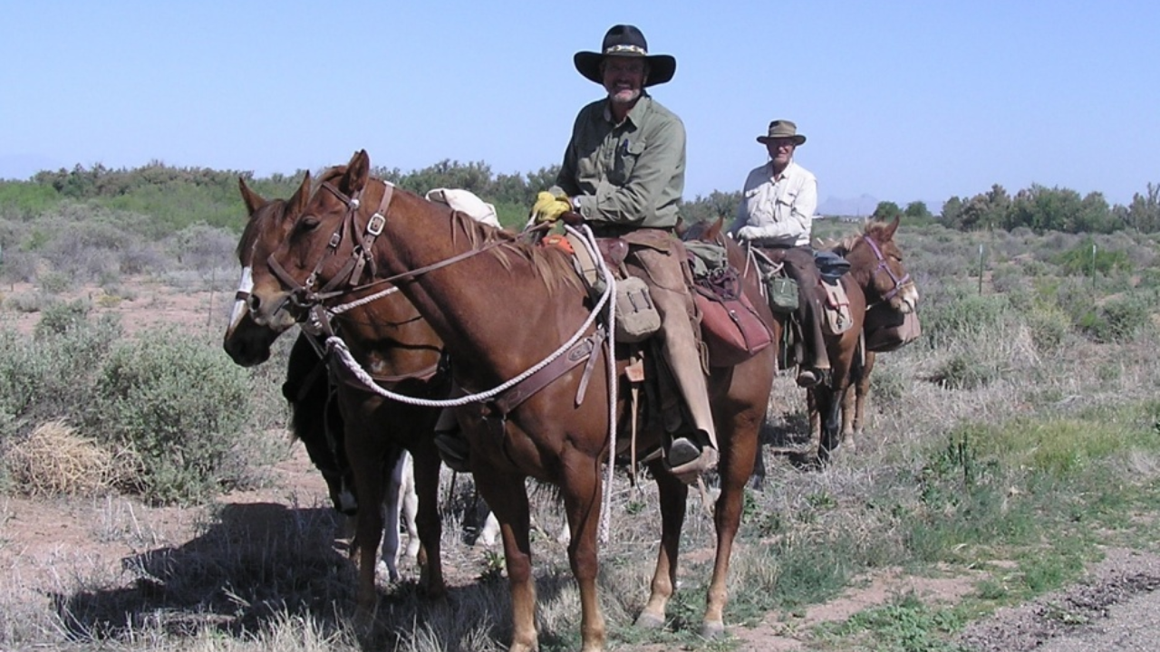
[(741, 291), (732, 267), (698, 280), (693, 298), (701, 312), (710, 367), (733, 367), (773, 343), (773, 333)]

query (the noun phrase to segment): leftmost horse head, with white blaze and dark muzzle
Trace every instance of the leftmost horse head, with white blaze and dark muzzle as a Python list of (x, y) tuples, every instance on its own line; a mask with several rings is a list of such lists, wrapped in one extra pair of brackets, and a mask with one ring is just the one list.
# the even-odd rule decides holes
[(238, 242), (241, 281), (222, 347), (235, 363), (253, 367), (270, 357), (270, 345), (284, 331), (259, 325), (249, 312), (247, 302), (253, 290), (253, 263), (255, 260), (264, 260), (273, 251), (271, 246), (284, 238), (284, 231), (292, 223), (291, 217), (302, 210), (309, 194), (310, 173), (306, 173), (298, 190), (288, 201), (263, 198), (246, 184), (244, 178), (238, 179), (238, 186), (249, 219)]

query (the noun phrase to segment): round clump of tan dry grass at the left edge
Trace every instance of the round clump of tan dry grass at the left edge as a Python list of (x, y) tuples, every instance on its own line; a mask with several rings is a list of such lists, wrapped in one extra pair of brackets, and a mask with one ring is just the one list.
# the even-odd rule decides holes
[(15, 487), (29, 497), (106, 493), (125, 478), (125, 455), (49, 421), (5, 454)]

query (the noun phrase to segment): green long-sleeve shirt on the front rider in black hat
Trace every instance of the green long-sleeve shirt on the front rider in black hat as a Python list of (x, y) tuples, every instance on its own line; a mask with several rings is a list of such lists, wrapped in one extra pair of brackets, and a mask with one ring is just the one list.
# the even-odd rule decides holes
[(580, 197), (588, 222), (672, 229), (684, 190), (684, 124), (647, 94), (614, 124), (608, 99), (597, 100), (580, 109), (556, 183)]

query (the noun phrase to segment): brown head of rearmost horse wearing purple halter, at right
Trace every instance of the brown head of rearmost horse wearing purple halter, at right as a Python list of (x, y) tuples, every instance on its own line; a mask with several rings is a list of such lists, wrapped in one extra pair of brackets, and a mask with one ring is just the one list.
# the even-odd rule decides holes
[(887, 302), (894, 310), (912, 312), (919, 304), (919, 290), (902, 265), (902, 252), (894, 242), (899, 218), (869, 220), (863, 232), (840, 245), (850, 261), (850, 273), (867, 295), (867, 303)]

